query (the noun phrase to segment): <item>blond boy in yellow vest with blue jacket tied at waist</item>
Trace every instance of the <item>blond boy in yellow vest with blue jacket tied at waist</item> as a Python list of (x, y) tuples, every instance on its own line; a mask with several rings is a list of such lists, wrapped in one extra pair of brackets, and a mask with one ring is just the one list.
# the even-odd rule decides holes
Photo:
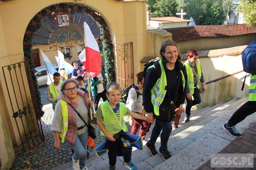
[[(132, 147), (143, 150), (142, 138), (137, 135), (127, 133), (127, 127), (124, 122), (124, 116), (130, 115), (133, 118), (141, 119), (153, 123), (147, 117), (131, 112), (125, 103), (119, 102), (121, 99), (121, 87), (119, 84), (112, 82), (106, 89), (107, 101), (101, 103), (94, 117), (97, 118), (97, 124), (101, 130), (101, 135), (105, 136), (103, 145), (95, 148), (97, 155), (101, 151), (109, 150), (109, 167), (115, 170), (116, 156), (124, 157), (124, 166), (130, 170), (138, 168), (131, 162)], [(136, 145), (136, 143), (139, 145)]]

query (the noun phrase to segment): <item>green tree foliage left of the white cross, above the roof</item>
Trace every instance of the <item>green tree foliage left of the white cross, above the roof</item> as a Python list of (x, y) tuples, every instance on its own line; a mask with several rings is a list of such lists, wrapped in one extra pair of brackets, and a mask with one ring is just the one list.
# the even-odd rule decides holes
[(152, 17), (176, 16), (176, 0), (148, 0), (148, 10)]

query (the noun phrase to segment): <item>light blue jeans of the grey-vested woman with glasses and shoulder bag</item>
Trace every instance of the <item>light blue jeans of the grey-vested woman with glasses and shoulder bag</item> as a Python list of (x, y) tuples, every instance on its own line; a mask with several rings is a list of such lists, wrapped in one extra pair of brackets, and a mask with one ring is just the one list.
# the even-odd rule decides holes
[(85, 133), (76, 136), (74, 146), (68, 142), (70, 145), (70, 148), (74, 150), (73, 159), (79, 160), (80, 169), (83, 169), (85, 167), (86, 156), (87, 156), (87, 142), (88, 142), (88, 130)]

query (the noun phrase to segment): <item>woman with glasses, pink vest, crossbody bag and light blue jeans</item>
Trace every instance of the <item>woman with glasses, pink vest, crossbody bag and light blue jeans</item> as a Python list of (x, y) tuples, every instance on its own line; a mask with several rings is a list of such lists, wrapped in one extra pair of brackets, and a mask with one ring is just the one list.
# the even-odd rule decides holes
[(91, 120), (89, 112), (89, 107), (93, 107), (93, 101), (88, 101), (88, 93), (77, 89), (76, 85), (77, 82), (74, 79), (68, 79), (62, 83), (60, 88), (62, 94), (55, 106), (51, 131), (55, 135), (54, 146), (57, 151), (60, 148), (60, 137), (62, 143), (65, 140), (69, 143), (74, 150), (73, 169), (80, 170), (86, 169), (88, 129), (76, 111), (86, 123), (96, 124), (96, 119)]

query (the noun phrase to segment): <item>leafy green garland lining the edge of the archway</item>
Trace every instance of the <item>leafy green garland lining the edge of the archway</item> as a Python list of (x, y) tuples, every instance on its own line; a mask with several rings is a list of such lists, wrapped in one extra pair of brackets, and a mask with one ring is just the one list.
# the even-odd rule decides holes
[[(87, 6), (82, 6), (75, 3), (61, 3), (48, 6), (41, 10), (37, 15), (35, 15), (29, 22), (26, 29), (26, 33), (23, 39), (23, 50), (24, 56), (28, 58), (30, 65), (30, 72), (33, 81), (35, 97), (37, 99), (39, 114), (42, 117), (44, 112), (42, 111), (43, 104), (41, 102), (41, 95), (38, 90), (37, 80), (34, 75), (34, 62), (33, 57), (30, 54), (31, 49), (35, 42), (32, 42), (34, 33), (41, 28), (41, 19), (45, 19), (46, 16), (54, 17), (54, 13), (87, 13), (98, 25), (101, 36), (100, 39), (103, 44), (103, 54), (105, 57), (105, 71), (108, 75), (108, 82), (115, 82), (115, 72), (114, 72), (114, 54), (113, 54), (113, 44), (111, 41), (110, 31), (104, 19), (96, 11), (92, 10)], [(63, 19), (63, 18), (62, 18)], [(70, 21), (72, 22), (72, 21)], [(54, 26), (52, 26), (54, 27)], [(42, 44), (47, 45), (47, 44)], [(67, 56), (68, 57), (68, 56)]]

